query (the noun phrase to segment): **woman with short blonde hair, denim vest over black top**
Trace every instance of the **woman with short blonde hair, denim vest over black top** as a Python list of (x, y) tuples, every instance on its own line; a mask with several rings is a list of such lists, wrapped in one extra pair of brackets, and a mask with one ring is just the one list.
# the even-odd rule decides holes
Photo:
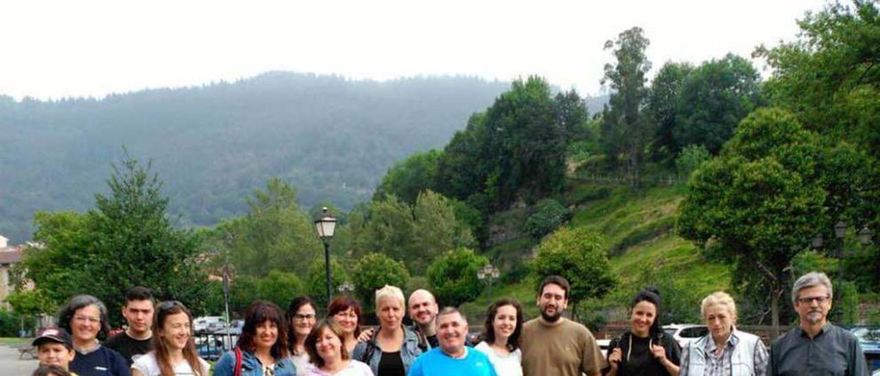
[(370, 365), (376, 376), (405, 375), (415, 358), (422, 354), (419, 337), (403, 326), (403, 292), (395, 286), (376, 291), (376, 315), (379, 329), (368, 342), (357, 343), (353, 359)]

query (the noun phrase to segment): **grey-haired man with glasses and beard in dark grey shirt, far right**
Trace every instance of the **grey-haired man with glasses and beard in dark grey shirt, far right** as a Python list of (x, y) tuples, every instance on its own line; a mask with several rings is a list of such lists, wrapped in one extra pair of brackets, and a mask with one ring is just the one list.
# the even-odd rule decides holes
[(825, 273), (811, 271), (797, 278), (791, 300), (800, 321), (771, 346), (771, 376), (869, 374), (859, 340), (849, 330), (828, 322), (833, 296)]

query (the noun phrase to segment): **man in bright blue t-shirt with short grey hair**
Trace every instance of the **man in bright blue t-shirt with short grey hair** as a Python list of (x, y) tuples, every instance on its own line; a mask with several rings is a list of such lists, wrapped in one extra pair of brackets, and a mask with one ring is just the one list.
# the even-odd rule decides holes
[(467, 320), (458, 309), (445, 307), (435, 325), (439, 347), (416, 358), (408, 376), (497, 376), (485, 354), (465, 345)]

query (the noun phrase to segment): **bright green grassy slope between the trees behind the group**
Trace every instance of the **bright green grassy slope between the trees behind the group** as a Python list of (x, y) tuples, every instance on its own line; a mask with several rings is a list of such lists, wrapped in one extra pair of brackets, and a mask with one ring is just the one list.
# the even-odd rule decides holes
[[(562, 198), (575, 205), (568, 226), (597, 228), (605, 236), (605, 245), (611, 255), (618, 287), (601, 301), (589, 302), (591, 309), (622, 307), (632, 294), (646, 282), (644, 273), (672, 276), (671, 285), (690, 296), (705, 296), (726, 289), (730, 273), (721, 264), (704, 260), (692, 243), (674, 235), (675, 213), (682, 199), (676, 187), (652, 188), (633, 192), (627, 187), (572, 182)], [(522, 209), (519, 209), (522, 211)], [(517, 213), (502, 213), (494, 223), (516, 226), (510, 218), (527, 218)], [(523, 220), (524, 221), (524, 220)], [(488, 249), (487, 255), (501, 262), (502, 270), (521, 264), (524, 255), (530, 255), (537, 242), (519, 238)], [(510, 284), (495, 288), (494, 297), (512, 296), (521, 301), (526, 315), (537, 315), (534, 307), (534, 281), (517, 278)], [(471, 317), (485, 309), (485, 296), (462, 308)], [(699, 302), (694, 303), (699, 304)], [(694, 306), (696, 307), (696, 306)], [(605, 309), (605, 319), (619, 320), (620, 309)]]

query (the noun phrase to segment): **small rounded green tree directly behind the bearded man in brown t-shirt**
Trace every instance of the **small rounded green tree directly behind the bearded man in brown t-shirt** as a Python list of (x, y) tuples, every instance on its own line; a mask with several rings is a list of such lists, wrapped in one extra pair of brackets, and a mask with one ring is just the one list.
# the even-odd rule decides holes
[(616, 284), (602, 238), (590, 228), (559, 228), (538, 247), (532, 260), (532, 275), (541, 280), (551, 275), (568, 279), (568, 301), (572, 312), (577, 303), (602, 298)]

